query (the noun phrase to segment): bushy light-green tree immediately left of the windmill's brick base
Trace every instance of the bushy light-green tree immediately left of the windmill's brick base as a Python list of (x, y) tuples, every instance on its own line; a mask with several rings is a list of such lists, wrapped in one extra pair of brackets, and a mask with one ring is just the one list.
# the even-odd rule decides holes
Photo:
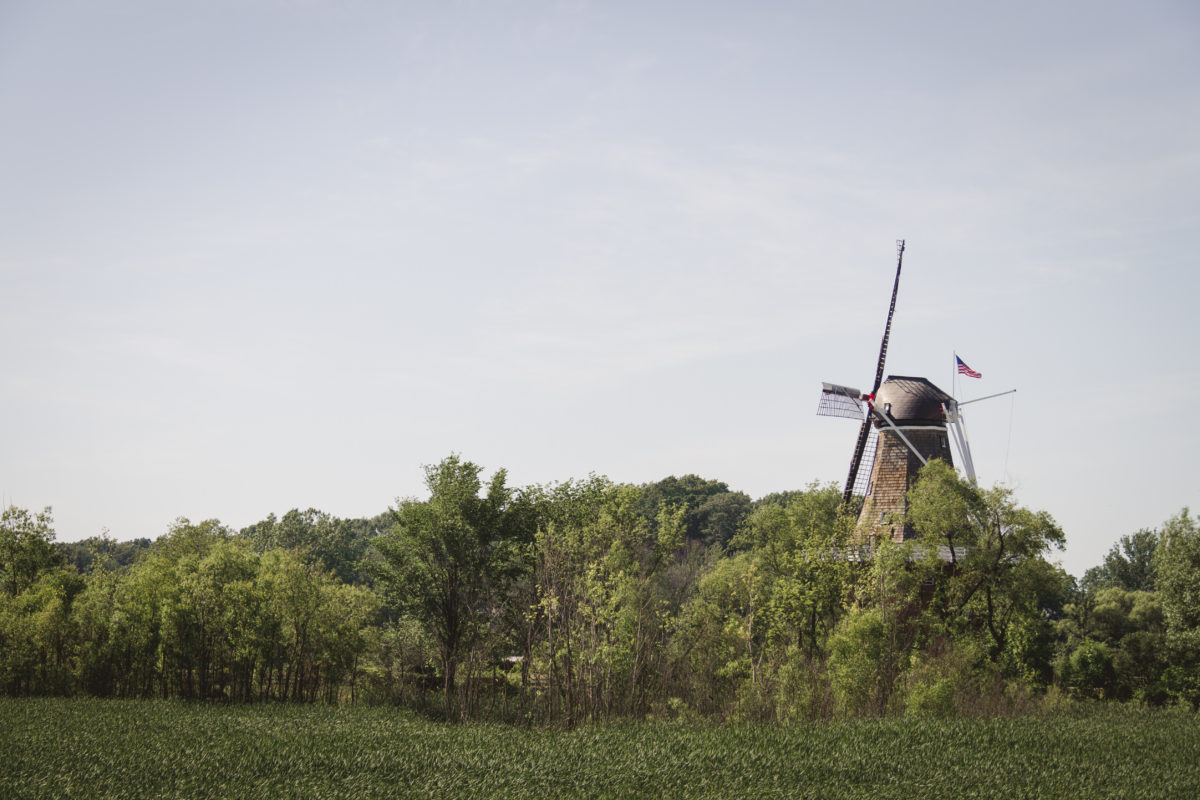
[[(720, 495), (718, 495), (720, 497)], [(767, 718), (828, 711), (827, 643), (852, 583), (834, 487), (760, 504), (710, 558), (676, 624), (697, 708)]]

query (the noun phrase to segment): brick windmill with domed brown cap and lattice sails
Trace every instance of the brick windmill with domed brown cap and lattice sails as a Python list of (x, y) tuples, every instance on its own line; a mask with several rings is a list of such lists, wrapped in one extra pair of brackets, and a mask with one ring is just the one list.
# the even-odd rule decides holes
[(888, 375), (887, 380), (883, 379), (902, 265), (904, 240), (900, 240), (896, 242), (896, 277), (892, 285), (892, 305), (883, 327), (883, 343), (871, 391), (860, 392), (838, 384), (822, 384), (817, 408), (817, 414), (823, 416), (862, 420), (842, 500), (848, 504), (856, 495), (863, 498), (857, 533), (866, 541), (888, 536), (899, 542), (913, 535), (904, 524), (906, 494), (917, 479), (917, 473), (931, 458), (954, 464), (950, 453), (952, 435), (964, 471), (974, 481), (971, 450), (955, 399), (926, 378)]

